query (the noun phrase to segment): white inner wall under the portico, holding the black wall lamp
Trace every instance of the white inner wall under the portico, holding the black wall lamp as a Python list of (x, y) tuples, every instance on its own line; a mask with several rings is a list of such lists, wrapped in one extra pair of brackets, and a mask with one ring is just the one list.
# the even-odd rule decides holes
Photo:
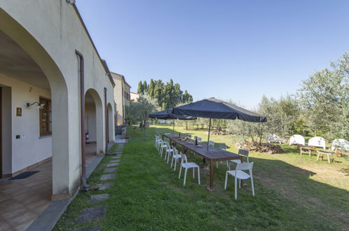
[[(52, 156), (52, 137), (40, 137), (39, 109), (35, 106), (26, 106), (28, 102), (39, 102), (39, 97), (50, 99), (50, 92), (1, 74), (0, 83), (11, 88), (9, 99), (12, 120), (11, 137), (14, 139), (10, 141), (11, 151), (3, 152), (3, 158), (7, 160), (3, 162), (3, 169), (6, 170), (3, 174), (12, 174)], [(22, 108), (22, 116), (15, 116), (16, 107)], [(3, 113), (6, 111), (4, 110)], [(3, 122), (5, 124), (7, 121)], [(3, 135), (8, 136), (8, 134)], [(20, 139), (15, 139), (16, 135), (20, 135)], [(11, 155), (12, 160), (8, 162)]]

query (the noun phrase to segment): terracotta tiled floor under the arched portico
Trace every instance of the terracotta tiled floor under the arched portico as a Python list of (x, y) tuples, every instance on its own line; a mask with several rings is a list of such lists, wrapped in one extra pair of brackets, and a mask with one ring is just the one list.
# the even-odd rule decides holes
[[(86, 163), (96, 158), (96, 144), (86, 145)], [(64, 170), (64, 169), (62, 169)], [(26, 230), (51, 202), (52, 161), (30, 169), (26, 179), (0, 183), (0, 230)]]

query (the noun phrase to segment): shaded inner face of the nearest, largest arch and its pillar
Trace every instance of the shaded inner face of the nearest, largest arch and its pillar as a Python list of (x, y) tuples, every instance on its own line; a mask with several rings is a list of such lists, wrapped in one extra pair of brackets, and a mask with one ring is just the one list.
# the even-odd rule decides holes
[(36, 38), (3, 9), (0, 18), (0, 30), (27, 52), (48, 80), (52, 101), (52, 195), (71, 195), (78, 179), (73, 179), (69, 161), (69, 92), (62, 71)]

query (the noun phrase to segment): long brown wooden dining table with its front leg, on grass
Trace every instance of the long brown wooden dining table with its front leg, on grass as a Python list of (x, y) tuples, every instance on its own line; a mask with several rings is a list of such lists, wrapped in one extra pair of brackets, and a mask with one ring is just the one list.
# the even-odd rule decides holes
[(200, 144), (200, 146), (195, 146), (195, 141), (190, 140), (191, 143), (187, 141), (183, 141), (179, 139), (178, 136), (174, 136), (173, 134), (163, 134), (162, 137), (166, 137), (172, 143), (178, 144), (182, 146), (182, 153), (187, 153), (187, 151), (191, 151), (192, 153), (196, 153), (200, 155), (202, 158), (210, 161), (210, 186), (208, 190), (213, 190), (213, 161), (221, 161), (221, 160), (241, 160), (243, 162), (243, 157), (241, 155), (231, 153), (220, 148), (215, 148), (212, 146), (208, 146), (206, 144)]

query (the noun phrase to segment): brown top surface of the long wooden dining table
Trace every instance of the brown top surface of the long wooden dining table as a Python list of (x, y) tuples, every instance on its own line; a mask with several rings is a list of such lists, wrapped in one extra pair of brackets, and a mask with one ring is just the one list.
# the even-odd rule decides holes
[(173, 134), (164, 134), (164, 137), (170, 139), (176, 144), (179, 144), (181, 146), (184, 146), (188, 150), (192, 151), (193, 153), (197, 153), (197, 155), (201, 155), (203, 158), (206, 158), (208, 160), (218, 161), (218, 160), (240, 160), (241, 155), (231, 153), (225, 150), (222, 150), (220, 148), (215, 148), (212, 146), (208, 146), (206, 144), (200, 144), (201, 147), (195, 146), (195, 141), (190, 140), (191, 143), (188, 143), (187, 141), (180, 140), (178, 136), (174, 137)]

